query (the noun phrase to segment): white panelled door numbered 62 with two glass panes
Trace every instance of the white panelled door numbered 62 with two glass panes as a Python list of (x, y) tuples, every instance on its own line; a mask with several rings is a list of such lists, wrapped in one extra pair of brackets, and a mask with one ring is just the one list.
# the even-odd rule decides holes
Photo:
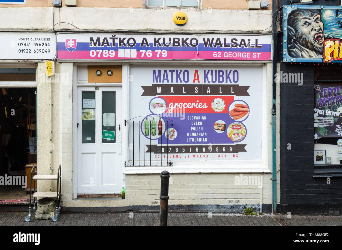
[(121, 87), (78, 87), (77, 123), (77, 193), (119, 193)]

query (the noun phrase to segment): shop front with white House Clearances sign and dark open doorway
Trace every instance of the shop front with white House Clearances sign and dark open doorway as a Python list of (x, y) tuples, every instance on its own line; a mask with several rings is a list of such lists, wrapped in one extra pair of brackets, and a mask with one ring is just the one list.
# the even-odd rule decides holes
[(56, 37), (52, 32), (0, 32), (0, 37), (0, 206), (21, 210), (37, 165), (36, 62), (55, 56)]

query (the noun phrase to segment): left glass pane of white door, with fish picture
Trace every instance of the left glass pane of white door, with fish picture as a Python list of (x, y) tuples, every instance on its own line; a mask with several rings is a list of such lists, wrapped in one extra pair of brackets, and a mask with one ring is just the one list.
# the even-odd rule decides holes
[(95, 91), (82, 91), (82, 143), (95, 143)]

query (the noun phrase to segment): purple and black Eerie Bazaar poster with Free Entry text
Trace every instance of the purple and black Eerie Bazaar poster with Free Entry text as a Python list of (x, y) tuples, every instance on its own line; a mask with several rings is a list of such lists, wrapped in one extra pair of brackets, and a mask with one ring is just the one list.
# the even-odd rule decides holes
[(317, 137), (342, 136), (342, 95), (340, 84), (315, 84), (315, 113), (318, 114)]

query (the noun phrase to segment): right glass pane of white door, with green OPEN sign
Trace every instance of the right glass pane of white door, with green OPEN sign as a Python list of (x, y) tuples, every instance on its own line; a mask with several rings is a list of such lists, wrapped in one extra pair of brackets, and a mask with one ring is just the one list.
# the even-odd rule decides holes
[(115, 92), (102, 92), (102, 143), (115, 143)]

